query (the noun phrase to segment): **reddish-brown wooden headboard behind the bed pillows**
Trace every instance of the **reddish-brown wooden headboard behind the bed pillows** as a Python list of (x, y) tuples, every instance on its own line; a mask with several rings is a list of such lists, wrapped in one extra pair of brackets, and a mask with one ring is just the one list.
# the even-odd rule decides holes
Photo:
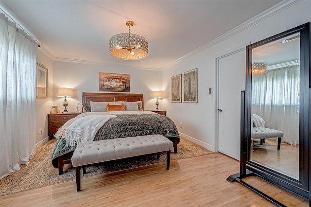
[(142, 93), (82, 93), (82, 103), (92, 102), (142, 102), (144, 109), (144, 96)]

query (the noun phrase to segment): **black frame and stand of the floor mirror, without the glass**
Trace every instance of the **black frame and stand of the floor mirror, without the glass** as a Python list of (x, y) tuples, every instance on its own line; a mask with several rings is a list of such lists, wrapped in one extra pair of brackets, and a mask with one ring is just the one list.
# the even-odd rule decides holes
[[(299, 116), (299, 179), (276, 172), (250, 160), (251, 155), (251, 81), (252, 50), (285, 36), (300, 32), (300, 116)], [(254, 175), (296, 196), (311, 200), (311, 22), (246, 46), (246, 86), (241, 93), (241, 161), (240, 173), (227, 181), (238, 181), (277, 206), (284, 206), (241, 179)], [(311, 205), (311, 202), (310, 202)]]

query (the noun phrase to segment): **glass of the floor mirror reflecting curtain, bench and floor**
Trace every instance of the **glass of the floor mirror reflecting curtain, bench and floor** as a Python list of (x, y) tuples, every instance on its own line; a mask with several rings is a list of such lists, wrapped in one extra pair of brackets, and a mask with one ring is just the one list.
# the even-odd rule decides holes
[(252, 50), (251, 160), (299, 179), (300, 34)]

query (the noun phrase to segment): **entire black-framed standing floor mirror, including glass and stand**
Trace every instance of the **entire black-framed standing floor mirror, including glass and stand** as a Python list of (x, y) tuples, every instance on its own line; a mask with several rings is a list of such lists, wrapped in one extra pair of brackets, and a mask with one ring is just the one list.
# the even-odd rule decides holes
[(310, 26), (308, 22), (246, 47), (241, 170), (227, 180), (257, 191), (242, 178), (259, 176), (311, 204)]

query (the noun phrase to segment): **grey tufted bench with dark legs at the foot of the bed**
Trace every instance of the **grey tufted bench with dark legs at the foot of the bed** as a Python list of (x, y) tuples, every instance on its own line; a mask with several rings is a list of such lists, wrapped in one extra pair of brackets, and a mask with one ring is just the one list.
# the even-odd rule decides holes
[(146, 135), (127, 138), (104, 139), (78, 144), (71, 157), (76, 171), (77, 191), (81, 190), (81, 168), (86, 173), (86, 166), (126, 157), (157, 154), (166, 151), (166, 169), (170, 169), (173, 142), (162, 135)]

